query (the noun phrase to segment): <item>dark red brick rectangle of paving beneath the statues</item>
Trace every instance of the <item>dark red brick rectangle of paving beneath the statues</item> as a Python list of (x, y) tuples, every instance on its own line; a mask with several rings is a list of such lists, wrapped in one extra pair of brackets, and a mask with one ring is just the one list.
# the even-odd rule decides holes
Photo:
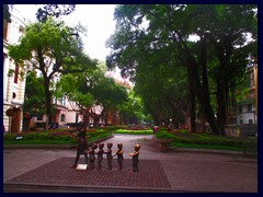
[[(116, 159), (113, 160), (113, 169), (106, 169), (106, 162), (102, 169), (73, 170), (68, 166), (75, 158), (59, 158), (55, 161), (38, 166), (30, 172), (16, 176), (7, 183), (24, 184), (64, 184), (85, 185), (101, 187), (144, 187), (144, 188), (170, 188), (168, 178), (158, 160), (140, 160), (140, 172), (133, 172), (132, 160), (124, 160), (123, 170), (118, 170)], [(83, 159), (80, 163), (84, 163)]]

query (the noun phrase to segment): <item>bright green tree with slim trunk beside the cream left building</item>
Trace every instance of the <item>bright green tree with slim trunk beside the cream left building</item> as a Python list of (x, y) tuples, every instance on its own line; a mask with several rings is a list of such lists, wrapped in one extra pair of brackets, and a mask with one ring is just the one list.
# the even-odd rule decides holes
[(26, 26), (20, 44), (9, 47), (9, 55), (23, 69), (38, 70), (44, 78), (47, 125), (52, 115), (50, 82), (59, 73), (81, 72), (90, 66), (82, 54), (82, 43), (72, 28), (49, 18), (45, 23)]

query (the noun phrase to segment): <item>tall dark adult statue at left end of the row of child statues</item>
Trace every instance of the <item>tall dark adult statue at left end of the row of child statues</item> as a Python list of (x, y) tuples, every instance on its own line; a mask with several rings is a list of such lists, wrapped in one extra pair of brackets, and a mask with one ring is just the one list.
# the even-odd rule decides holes
[(81, 154), (84, 154), (84, 162), (88, 164), (88, 154), (84, 152), (84, 150), (88, 149), (88, 143), (87, 143), (87, 131), (84, 128), (84, 123), (79, 121), (77, 126), (78, 134), (75, 134), (76, 137), (78, 137), (78, 147), (77, 147), (77, 155), (73, 165), (69, 166), (70, 169), (76, 169), (79, 158)]

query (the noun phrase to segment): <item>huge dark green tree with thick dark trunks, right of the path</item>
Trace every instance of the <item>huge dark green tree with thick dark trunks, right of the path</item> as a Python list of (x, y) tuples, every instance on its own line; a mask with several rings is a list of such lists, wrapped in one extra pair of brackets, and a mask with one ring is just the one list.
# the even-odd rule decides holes
[[(114, 16), (117, 25), (108, 40), (112, 54), (107, 66), (118, 66), (123, 73), (135, 78), (148, 78), (145, 67), (152, 71), (158, 70), (156, 67), (168, 71), (171, 66), (183, 67), (192, 131), (195, 130), (197, 101), (213, 132), (225, 135), (230, 86), (244, 73), (247, 57), (255, 46), (255, 40), (248, 42), (247, 37), (251, 34), (256, 37), (256, 5), (125, 4), (116, 8)], [(157, 84), (159, 78), (155, 80)], [(138, 81), (137, 85), (145, 84)], [(217, 99), (216, 108), (211, 105), (213, 94)], [(149, 97), (155, 97), (155, 93)], [(165, 108), (164, 104), (160, 105)]]

